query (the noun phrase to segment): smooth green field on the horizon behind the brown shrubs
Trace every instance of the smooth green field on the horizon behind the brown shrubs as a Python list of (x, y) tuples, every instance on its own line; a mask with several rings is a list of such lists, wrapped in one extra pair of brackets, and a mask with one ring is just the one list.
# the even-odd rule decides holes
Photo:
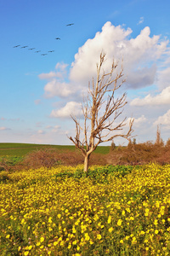
[[(25, 156), (26, 154), (42, 149), (54, 148), (59, 151), (76, 150), (75, 146), (64, 145), (47, 145), (47, 144), (29, 144), (29, 143), (0, 143), (0, 156)], [(109, 146), (99, 146), (96, 148), (95, 153), (108, 154), (110, 151)]]

